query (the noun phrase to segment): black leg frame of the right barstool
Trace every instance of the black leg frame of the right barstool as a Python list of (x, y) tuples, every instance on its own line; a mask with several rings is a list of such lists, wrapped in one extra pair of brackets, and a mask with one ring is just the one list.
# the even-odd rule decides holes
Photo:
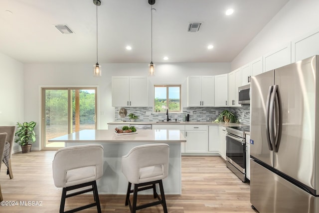
[[(156, 184), (159, 184), (159, 186), (160, 186), (160, 196), (156, 192)], [(134, 190), (131, 190), (131, 186), (132, 186), (132, 183), (129, 182), (128, 190), (126, 193), (126, 199), (125, 199), (125, 206), (129, 205), (131, 213), (136, 213), (137, 210), (145, 209), (148, 207), (153, 207), (153, 206), (160, 205), (160, 204), (163, 207), (164, 213), (167, 213), (165, 195), (164, 195), (164, 190), (163, 190), (163, 183), (161, 180), (147, 182), (147, 183), (143, 183), (143, 184), (134, 184)], [(138, 192), (144, 191), (144, 190), (149, 190), (149, 189), (153, 189), (153, 196), (154, 196), (154, 198), (157, 198), (159, 201), (152, 202), (149, 204), (144, 204), (141, 206), (136, 206)], [(131, 205), (131, 201), (130, 201), (130, 194), (131, 193), (133, 193), (133, 206)]]

